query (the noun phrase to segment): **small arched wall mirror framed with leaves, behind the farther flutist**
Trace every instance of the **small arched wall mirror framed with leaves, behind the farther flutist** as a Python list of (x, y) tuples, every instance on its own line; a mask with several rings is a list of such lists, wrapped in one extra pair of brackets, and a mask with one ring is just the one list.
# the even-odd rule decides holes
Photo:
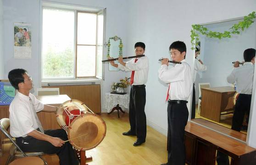
[[(107, 43), (107, 58), (112, 57), (115, 59), (119, 56), (122, 56), (122, 46), (122, 39), (120, 37), (110, 37)], [(119, 70), (118, 68), (111, 66), (111, 64), (109, 64), (108, 66), (110, 71)]]

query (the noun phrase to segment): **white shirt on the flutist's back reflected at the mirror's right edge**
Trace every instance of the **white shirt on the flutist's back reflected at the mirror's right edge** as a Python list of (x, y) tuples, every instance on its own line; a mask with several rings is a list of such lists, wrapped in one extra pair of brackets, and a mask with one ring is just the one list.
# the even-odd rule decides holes
[(254, 64), (251, 62), (245, 62), (243, 66), (232, 70), (231, 74), (227, 77), (227, 81), (230, 84), (234, 84), (236, 82), (236, 91), (238, 93), (251, 95), (253, 74)]

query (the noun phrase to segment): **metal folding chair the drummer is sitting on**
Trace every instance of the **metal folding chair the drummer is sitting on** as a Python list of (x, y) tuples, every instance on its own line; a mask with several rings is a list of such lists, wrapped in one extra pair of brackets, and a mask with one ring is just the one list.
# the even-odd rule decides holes
[(23, 152), (22, 149), (16, 144), (16, 142), (12, 139), (11, 135), (7, 132), (7, 129), (10, 126), (10, 119), (9, 118), (2, 118), (0, 120), (0, 130), (2, 133), (6, 135), (7, 138), (9, 138), (12, 142), (11, 148), (10, 148), (10, 156), (8, 157), (6, 161), (6, 165), (8, 165), (11, 160), (14, 158), (21, 158), (21, 157), (26, 157), (26, 156), (39, 156), (47, 165), (46, 161), (41, 157), (44, 155), (43, 152)]

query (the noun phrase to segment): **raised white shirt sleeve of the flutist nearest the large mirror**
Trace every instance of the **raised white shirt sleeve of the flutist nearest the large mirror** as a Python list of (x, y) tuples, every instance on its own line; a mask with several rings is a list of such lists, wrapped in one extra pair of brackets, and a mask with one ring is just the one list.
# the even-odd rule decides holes
[(184, 69), (184, 64), (176, 64), (171, 69), (168, 69), (168, 66), (164, 64), (158, 70), (158, 77), (165, 83), (181, 81), (184, 80)]

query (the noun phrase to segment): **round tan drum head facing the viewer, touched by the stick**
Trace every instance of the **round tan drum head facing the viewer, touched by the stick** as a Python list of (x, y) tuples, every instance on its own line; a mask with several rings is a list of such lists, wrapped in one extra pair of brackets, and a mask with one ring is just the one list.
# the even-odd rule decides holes
[(106, 123), (96, 114), (86, 113), (75, 118), (68, 128), (70, 144), (78, 150), (95, 148), (106, 135)]

